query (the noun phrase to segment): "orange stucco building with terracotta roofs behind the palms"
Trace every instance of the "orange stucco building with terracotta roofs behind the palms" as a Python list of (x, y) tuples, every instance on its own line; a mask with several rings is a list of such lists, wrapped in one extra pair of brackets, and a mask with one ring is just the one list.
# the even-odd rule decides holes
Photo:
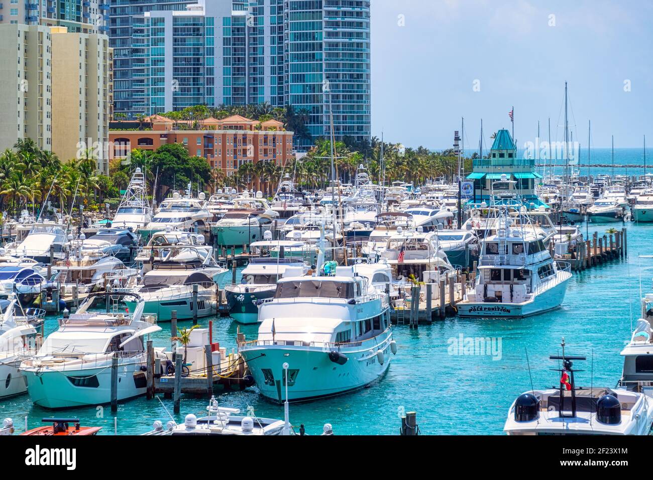
[[(293, 132), (283, 130), (283, 123), (276, 120), (261, 123), (234, 115), (224, 120), (200, 120), (195, 125), (194, 121), (175, 122), (153, 115), (143, 123), (150, 124), (151, 129), (109, 131), (110, 158), (127, 157), (135, 148), (156, 150), (165, 144), (180, 143), (189, 155), (204, 157), (212, 168), (222, 168), (231, 175), (247, 162), (285, 165), (295, 155)], [(192, 126), (197, 129), (188, 129)]]

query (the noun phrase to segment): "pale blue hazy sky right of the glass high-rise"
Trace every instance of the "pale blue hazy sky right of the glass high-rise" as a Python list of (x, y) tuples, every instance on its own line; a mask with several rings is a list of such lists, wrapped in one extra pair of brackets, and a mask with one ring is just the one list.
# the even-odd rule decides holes
[[(653, 1), (372, 0), (372, 135), (407, 147), (464, 146), (511, 129), (518, 146), (564, 140), (653, 145)], [(648, 147), (647, 147), (648, 150)]]

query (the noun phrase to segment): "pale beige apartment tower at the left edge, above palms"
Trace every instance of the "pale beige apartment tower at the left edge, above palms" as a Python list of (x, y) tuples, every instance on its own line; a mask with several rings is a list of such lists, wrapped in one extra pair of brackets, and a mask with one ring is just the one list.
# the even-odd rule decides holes
[(52, 150), (52, 35), (41, 25), (0, 25), (0, 151), (31, 138)]

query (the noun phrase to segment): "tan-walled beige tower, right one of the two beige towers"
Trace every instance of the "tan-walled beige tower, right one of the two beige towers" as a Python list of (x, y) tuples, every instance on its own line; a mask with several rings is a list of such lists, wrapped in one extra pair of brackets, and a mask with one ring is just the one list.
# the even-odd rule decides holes
[(52, 27), (52, 151), (62, 161), (90, 151), (108, 173), (111, 49), (106, 35)]

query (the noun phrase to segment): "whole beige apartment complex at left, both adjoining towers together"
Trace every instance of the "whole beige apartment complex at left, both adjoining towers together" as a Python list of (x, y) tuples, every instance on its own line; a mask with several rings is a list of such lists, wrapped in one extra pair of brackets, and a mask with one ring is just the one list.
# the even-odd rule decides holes
[[(86, 150), (108, 172), (113, 53), (106, 35), (0, 25), (0, 152), (20, 138), (67, 161)], [(15, 88), (13, 87), (15, 86)]]

